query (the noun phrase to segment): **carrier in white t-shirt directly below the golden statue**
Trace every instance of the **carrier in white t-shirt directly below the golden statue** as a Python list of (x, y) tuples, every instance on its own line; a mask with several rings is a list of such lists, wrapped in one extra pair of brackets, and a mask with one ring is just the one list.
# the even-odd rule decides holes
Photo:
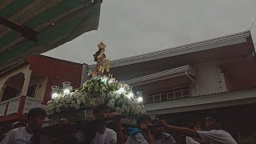
[[(113, 114), (109, 108), (109, 106), (106, 106), (105, 104), (99, 104), (94, 109), (94, 116), (95, 118), (108, 118), (115, 114)], [(91, 144), (117, 144), (117, 143), (123, 143), (122, 138), (122, 123), (121, 119), (118, 119), (117, 125), (118, 125), (118, 136), (117, 133), (114, 130), (111, 130), (109, 128), (106, 128), (106, 122), (97, 122), (97, 132), (96, 135), (91, 142)], [(120, 142), (121, 141), (121, 142)]]

